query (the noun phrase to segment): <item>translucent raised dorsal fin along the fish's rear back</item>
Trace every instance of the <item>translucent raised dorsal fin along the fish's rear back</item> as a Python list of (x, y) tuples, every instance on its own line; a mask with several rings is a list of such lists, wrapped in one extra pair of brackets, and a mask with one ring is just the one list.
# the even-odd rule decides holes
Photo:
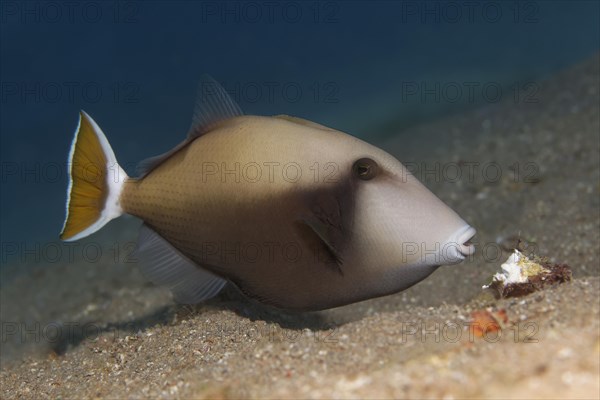
[(223, 86), (203, 74), (198, 83), (192, 125), (186, 139), (164, 154), (150, 157), (137, 166), (138, 178), (143, 178), (167, 158), (177, 153), (192, 140), (213, 129), (219, 122), (244, 115), (240, 106), (229, 96)]

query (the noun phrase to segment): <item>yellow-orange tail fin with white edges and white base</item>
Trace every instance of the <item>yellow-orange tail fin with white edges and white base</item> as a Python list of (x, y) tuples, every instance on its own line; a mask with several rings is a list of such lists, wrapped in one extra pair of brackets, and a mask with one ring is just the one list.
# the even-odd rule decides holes
[(119, 197), (126, 179), (106, 136), (81, 111), (69, 154), (67, 216), (60, 238), (81, 239), (121, 215)]

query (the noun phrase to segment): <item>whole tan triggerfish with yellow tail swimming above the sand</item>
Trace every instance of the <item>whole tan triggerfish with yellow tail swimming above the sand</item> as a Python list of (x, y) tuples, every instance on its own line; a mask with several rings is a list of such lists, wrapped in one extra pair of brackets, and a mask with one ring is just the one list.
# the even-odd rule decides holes
[(201, 82), (191, 128), (130, 178), (81, 112), (63, 240), (124, 214), (143, 224), (143, 274), (179, 303), (227, 282), (279, 308), (319, 310), (402, 291), (473, 254), (469, 224), (393, 156), (287, 115), (244, 115)]

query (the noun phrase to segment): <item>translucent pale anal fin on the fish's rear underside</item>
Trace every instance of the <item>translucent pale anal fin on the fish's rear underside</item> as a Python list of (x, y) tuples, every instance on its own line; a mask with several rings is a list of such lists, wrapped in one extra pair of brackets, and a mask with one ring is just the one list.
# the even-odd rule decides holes
[(210, 299), (227, 283), (189, 260), (146, 224), (140, 228), (136, 254), (142, 274), (154, 284), (168, 287), (177, 303)]

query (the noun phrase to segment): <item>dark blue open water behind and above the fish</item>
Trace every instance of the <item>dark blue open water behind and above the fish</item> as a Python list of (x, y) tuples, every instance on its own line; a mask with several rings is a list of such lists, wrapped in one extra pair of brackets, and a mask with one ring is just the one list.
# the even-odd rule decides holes
[(19, 262), (7, 245), (56, 240), (80, 109), (132, 173), (182, 140), (202, 73), (248, 114), (376, 141), (489, 101), (423, 100), (413, 84), (509, 88), (600, 48), (596, 1), (467, 3), (3, 1), (2, 264)]

